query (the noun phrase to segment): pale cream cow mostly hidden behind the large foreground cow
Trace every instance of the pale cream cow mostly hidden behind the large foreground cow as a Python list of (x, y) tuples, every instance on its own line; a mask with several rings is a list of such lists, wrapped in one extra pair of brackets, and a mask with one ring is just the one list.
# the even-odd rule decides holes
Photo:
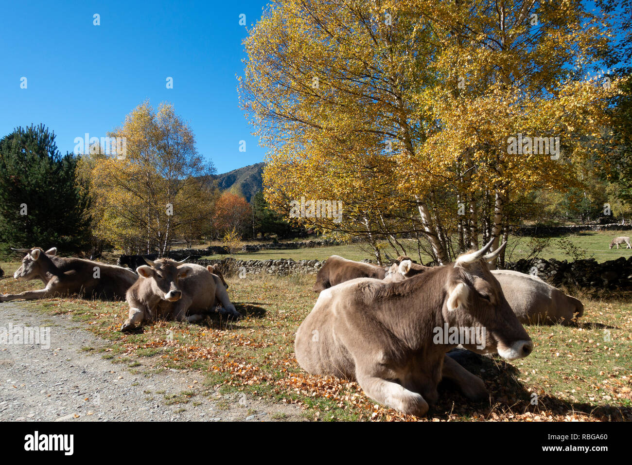
[[(384, 278), (387, 282), (401, 282), (419, 271), (410, 268), (410, 261), (393, 264)], [(574, 314), (579, 318), (584, 313), (583, 304), (571, 295), (553, 287), (532, 275), (519, 271), (492, 270), (501, 284), (502, 292), (521, 323), (571, 325)]]

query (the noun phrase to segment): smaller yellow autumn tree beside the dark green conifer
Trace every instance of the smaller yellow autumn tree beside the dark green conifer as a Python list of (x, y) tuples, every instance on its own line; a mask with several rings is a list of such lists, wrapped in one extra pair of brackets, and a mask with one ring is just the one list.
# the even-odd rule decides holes
[[(164, 255), (178, 236), (203, 232), (211, 219), (208, 177), (214, 171), (195, 149), (191, 128), (161, 104), (143, 102), (109, 134), (125, 137), (125, 157), (90, 163), (95, 234), (123, 249)], [(141, 245), (142, 243), (142, 245)]]

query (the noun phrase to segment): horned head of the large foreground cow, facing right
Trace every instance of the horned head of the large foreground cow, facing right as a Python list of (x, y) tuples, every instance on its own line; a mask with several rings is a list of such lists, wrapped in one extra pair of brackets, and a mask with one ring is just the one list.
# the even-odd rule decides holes
[(447, 299), (442, 313), (449, 326), (474, 328), (481, 334), (484, 328), (485, 347), (473, 342), (463, 344), (466, 349), (483, 354), (498, 352), (507, 360), (519, 359), (531, 353), (533, 342), (487, 266), (487, 261), (494, 260), (506, 243), (485, 255), (491, 245), (492, 241), (448, 265), (452, 269), (445, 285)]

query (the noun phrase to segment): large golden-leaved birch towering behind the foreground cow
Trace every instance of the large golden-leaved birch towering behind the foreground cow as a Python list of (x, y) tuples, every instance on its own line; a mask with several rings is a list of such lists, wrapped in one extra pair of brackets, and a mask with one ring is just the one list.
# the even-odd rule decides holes
[[(603, 158), (585, 136), (617, 92), (596, 75), (608, 35), (580, 1), (277, 1), (240, 82), (269, 147), (267, 199), (286, 214), (301, 195), (339, 199), (343, 221), (308, 221), (421, 233), (437, 263), (459, 227), (457, 249), (478, 245), (489, 205), (495, 248), (513, 193), (568, 189), (576, 161)], [(563, 154), (510, 153), (518, 133), (559, 137)]]

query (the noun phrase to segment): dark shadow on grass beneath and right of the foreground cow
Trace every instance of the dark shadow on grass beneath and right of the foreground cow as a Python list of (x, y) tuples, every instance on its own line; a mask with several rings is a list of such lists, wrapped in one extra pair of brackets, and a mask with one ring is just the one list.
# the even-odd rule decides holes
[[(428, 416), (451, 419), (454, 415), (467, 419), (475, 413), (490, 420), (520, 419), (526, 412), (534, 418), (563, 421), (567, 415), (593, 421), (632, 421), (632, 407), (588, 404), (558, 399), (546, 392), (528, 390), (518, 378), (520, 371), (499, 357), (480, 356), (467, 350), (459, 350), (453, 359), (470, 373), (480, 376), (490, 393), (489, 400), (473, 402), (466, 399), (458, 387), (449, 380), (439, 384), (439, 400)], [(535, 395), (534, 395), (535, 394)]]

